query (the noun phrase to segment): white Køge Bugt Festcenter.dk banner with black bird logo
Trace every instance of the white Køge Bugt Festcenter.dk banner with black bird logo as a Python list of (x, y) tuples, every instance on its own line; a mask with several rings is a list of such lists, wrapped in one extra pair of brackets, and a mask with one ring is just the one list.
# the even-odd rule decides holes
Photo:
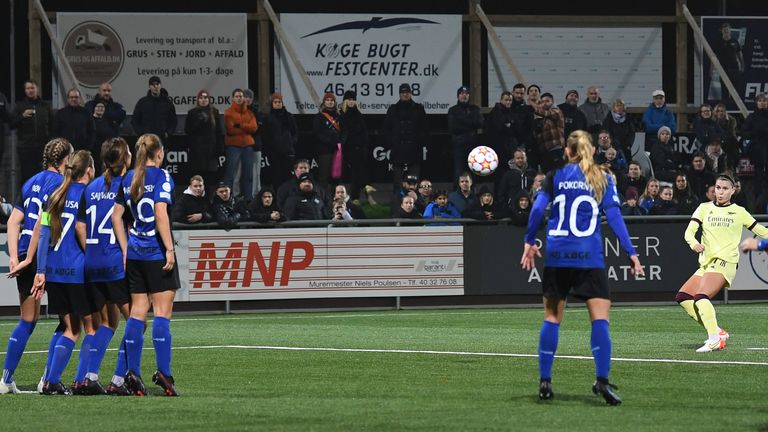
[[(444, 114), (461, 86), (460, 15), (281, 14), (299, 62), (319, 95), (357, 93), (363, 113), (384, 114), (401, 84), (428, 114)], [(286, 108), (314, 114), (298, 70), (278, 44), (275, 80)]]

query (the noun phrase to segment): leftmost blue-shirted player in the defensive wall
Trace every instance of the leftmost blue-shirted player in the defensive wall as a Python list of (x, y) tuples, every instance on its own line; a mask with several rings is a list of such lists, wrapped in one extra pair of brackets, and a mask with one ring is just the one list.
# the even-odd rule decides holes
[[(19, 392), (13, 380), (13, 374), (40, 315), (40, 300), (30, 295), (35, 277), (34, 257), (37, 251), (37, 242), (36, 239), (32, 241), (32, 236), (42, 214), (43, 204), (63, 180), (61, 172), (64, 171), (64, 165), (70, 153), (72, 153), (72, 145), (62, 138), (53, 139), (45, 145), (43, 150), (45, 169), (24, 183), (21, 196), (8, 218), (8, 254), (10, 256), (8, 275), (16, 278), (21, 319), (8, 339), (8, 350), (5, 354), (2, 379), (0, 379), (0, 394)], [(63, 331), (64, 326), (60, 324), (54, 331), (52, 342), (58, 340)], [(51, 350), (53, 345), (51, 343)]]

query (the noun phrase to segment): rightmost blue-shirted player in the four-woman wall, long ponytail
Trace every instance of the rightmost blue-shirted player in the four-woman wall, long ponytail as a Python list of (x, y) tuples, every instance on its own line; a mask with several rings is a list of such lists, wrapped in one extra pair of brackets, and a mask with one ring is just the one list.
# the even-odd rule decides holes
[[(178, 396), (171, 375), (171, 316), (173, 299), (179, 289), (170, 205), (173, 180), (160, 168), (165, 158), (163, 144), (154, 134), (144, 134), (136, 142), (136, 167), (123, 177), (112, 212), (115, 235), (126, 255), (126, 277), (131, 290), (131, 317), (125, 324), (128, 372), (125, 384), (131, 394), (146, 394), (141, 379), (141, 350), (150, 300), (153, 306), (152, 341), (157, 371), (152, 381), (167, 396)], [(126, 239), (121, 224), (125, 208), (133, 216)]]

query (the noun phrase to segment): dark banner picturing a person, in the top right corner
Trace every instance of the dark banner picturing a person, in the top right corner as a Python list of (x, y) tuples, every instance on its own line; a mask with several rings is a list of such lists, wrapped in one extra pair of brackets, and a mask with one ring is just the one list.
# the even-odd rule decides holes
[[(768, 93), (768, 17), (701, 17), (701, 31), (747, 109), (755, 109), (755, 96)], [(720, 73), (702, 55), (703, 95), (738, 111)]]

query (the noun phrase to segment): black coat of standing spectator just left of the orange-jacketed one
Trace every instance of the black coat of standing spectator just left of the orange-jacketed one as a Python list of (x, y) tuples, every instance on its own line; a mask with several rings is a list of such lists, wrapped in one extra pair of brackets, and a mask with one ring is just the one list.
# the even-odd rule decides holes
[(190, 152), (189, 169), (196, 174), (216, 171), (224, 137), (219, 111), (212, 106), (192, 108), (187, 112), (184, 133)]

